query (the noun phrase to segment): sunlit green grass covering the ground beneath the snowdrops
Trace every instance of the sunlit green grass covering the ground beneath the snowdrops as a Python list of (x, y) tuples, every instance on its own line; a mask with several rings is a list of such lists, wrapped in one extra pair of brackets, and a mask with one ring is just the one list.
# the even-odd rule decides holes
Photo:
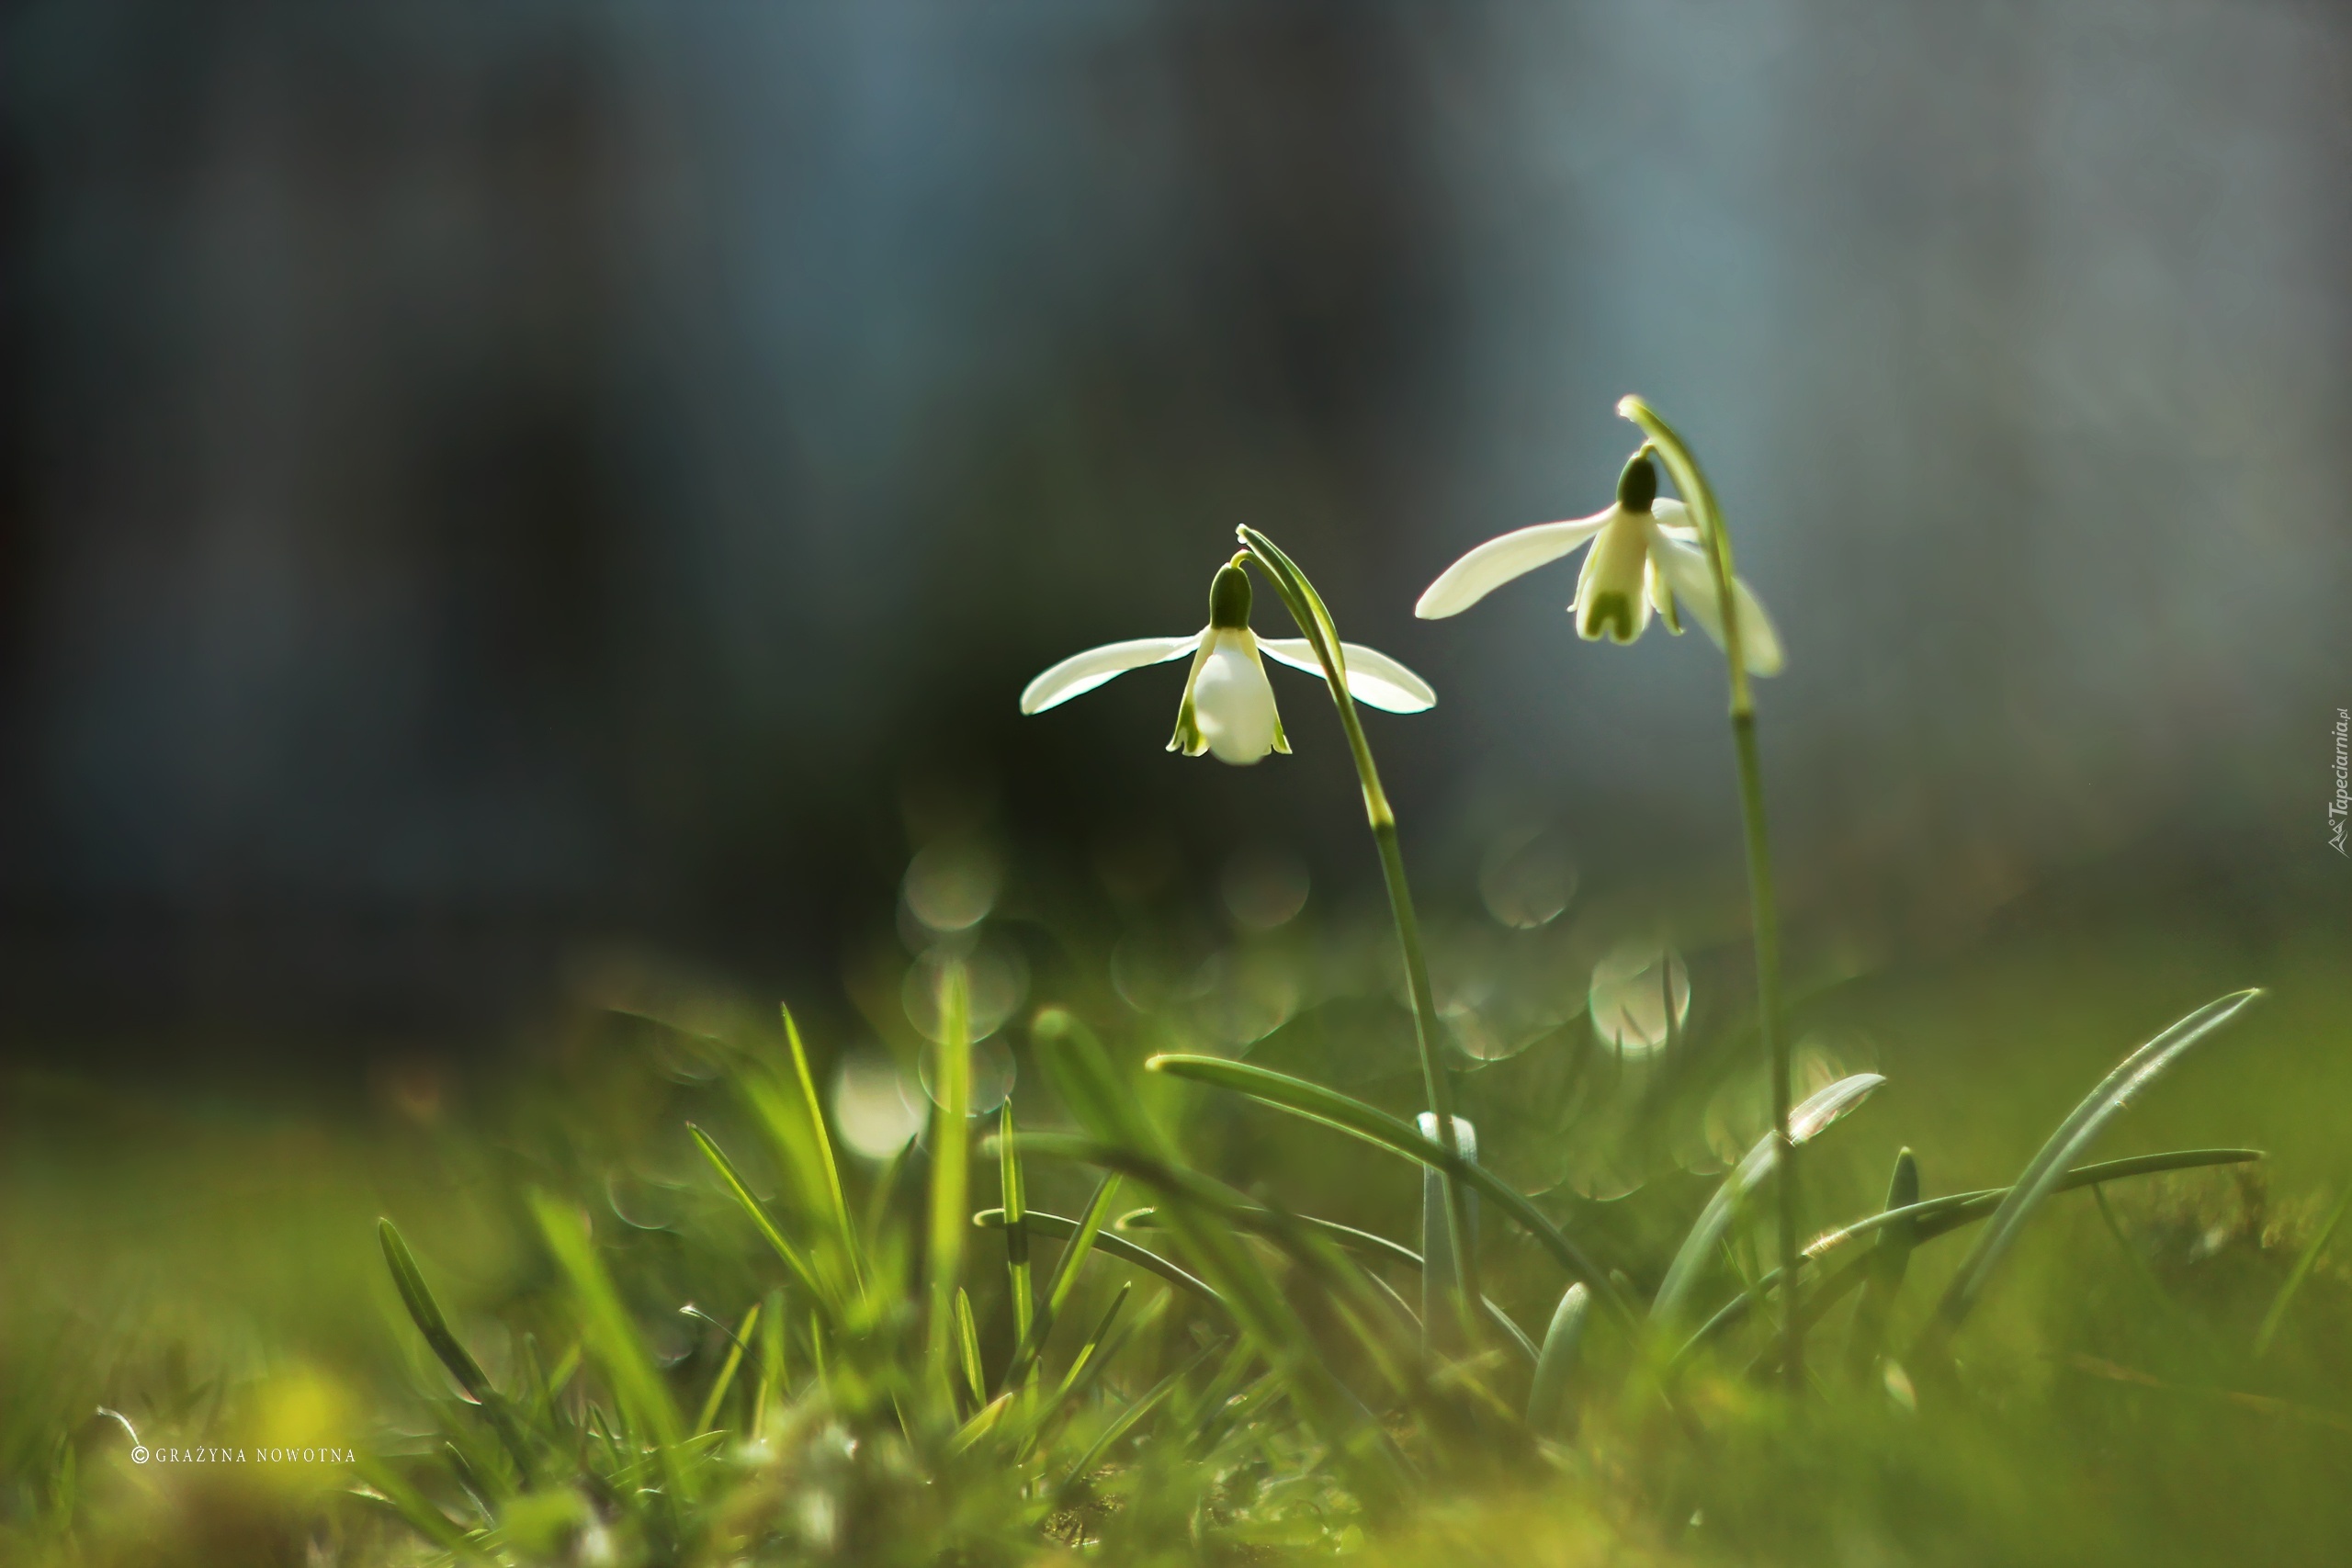
[[(1489, 1345), (1432, 1382), (1397, 1305), (1367, 1295), (1343, 1255), (1240, 1239), (1216, 1194), (1169, 1208), (1136, 1178), (1112, 1213), (1160, 1201), (1169, 1227), (1112, 1234), (1183, 1258), (1225, 1288), (1228, 1312), (1096, 1251), (1035, 1392), (1018, 1380), (971, 1420), (962, 1356), (927, 1349), (938, 1190), (920, 1164), (884, 1187), (877, 1166), (842, 1157), (844, 1241), (795, 1121), (790, 1056), (764, 1027), (720, 1044), (590, 1018), (557, 1060), (501, 1088), (435, 1107), (412, 1084), (346, 1121), (21, 1079), (0, 1166), (0, 1561), (2340, 1561), (2352, 1227), (2319, 1251), (2260, 1354), (2256, 1340), (2352, 1178), (2343, 938), (2244, 910), (2124, 936), (2046, 914), (1964, 957), (1816, 992), (1795, 1016), (1820, 1072), (1889, 1079), (1809, 1150), (1816, 1229), (1877, 1211), (1903, 1145), (1929, 1197), (2009, 1182), (2117, 1058), (2239, 985), (2267, 987), (2267, 1004), (2154, 1084), (2089, 1159), (2270, 1157), (2112, 1182), (2105, 1213), (2091, 1192), (2051, 1199), (1959, 1331), (1950, 1375), (1900, 1356), (1973, 1227), (1912, 1260), (1884, 1340), (1893, 1368), (1851, 1363), (1856, 1298), (1825, 1314), (1797, 1410), (1750, 1368), (1762, 1324), (1668, 1371), (1656, 1345), (1595, 1316), (1569, 1378), (1576, 1427), (1557, 1439), (1519, 1422), (1529, 1368), (1515, 1352)], [(1719, 1182), (1677, 1164), (1755, 1135), (1738, 1006), (1710, 1006), (1736, 957), (1696, 954), (1700, 1004), (1670, 1070), (1635, 1081), (1590, 1051), (1578, 1018), (1463, 1079), (1486, 1164), (1538, 1192), (1637, 1302)], [(1148, 1053), (1195, 1041), (1091, 969), (1040, 961), (1033, 1004), (1063, 1001), (1103, 1032), (1115, 1093), (1143, 1095), (1192, 1168), (1421, 1246), (1409, 1164), (1143, 1074)], [(1327, 1001), (1251, 1060), (1409, 1114), (1418, 1079), (1397, 1018), (1385, 1001)], [(1028, 1030), (1011, 1037), (1023, 1128), (1101, 1133), (1098, 1119), (1136, 1110), (1073, 1114)], [(811, 1039), (821, 1086), (830, 1056)], [(1084, 1072), (1075, 1081), (1094, 1093)], [(746, 1098), (753, 1084), (764, 1098)], [(689, 1121), (769, 1199), (807, 1279), (729, 1199)], [(971, 1126), (960, 1213), (1000, 1204), (995, 1128)], [(1628, 1180), (1630, 1197), (1576, 1194)], [(1094, 1171), (1033, 1152), (1025, 1185), (1030, 1208), (1077, 1215)], [(494, 1410), (461, 1401), (426, 1347), (379, 1215), (414, 1248)], [(1479, 1225), (1486, 1291), (1541, 1338), (1566, 1276), (1491, 1204)], [(995, 1401), (1014, 1349), (1004, 1232), (960, 1239), (981, 1396)], [(1042, 1300), (1061, 1241), (1033, 1253)], [(1693, 1316), (1769, 1255), (1769, 1237), (1736, 1222)], [(1411, 1269), (1374, 1272), (1421, 1305)], [(1129, 1284), (1103, 1352), (1056, 1403)], [(1258, 1286), (1270, 1293), (1235, 1300)], [(684, 1302), (729, 1326), (764, 1307), (731, 1371), (727, 1335)], [(1296, 1340), (1270, 1345), (1279, 1335)], [(134, 1465), (99, 1406), (151, 1450), (221, 1446), (245, 1462)], [(254, 1460), (303, 1446), (355, 1465)]]

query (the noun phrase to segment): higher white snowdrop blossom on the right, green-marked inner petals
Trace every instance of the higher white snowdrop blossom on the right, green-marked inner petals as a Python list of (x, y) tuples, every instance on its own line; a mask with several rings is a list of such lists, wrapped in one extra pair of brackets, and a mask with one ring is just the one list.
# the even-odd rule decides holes
[[(1682, 635), (1682, 611), (1689, 611), (1715, 646), (1724, 644), (1722, 604), (1715, 571), (1698, 543), (1691, 508), (1658, 498), (1658, 465), (1649, 447), (1632, 454), (1618, 475), (1618, 498), (1606, 512), (1576, 522), (1538, 522), (1501, 538), (1489, 538), (1470, 555), (1446, 567), (1414, 614), (1423, 621), (1458, 616), (1489, 592), (1545, 567), (1585, 543), (1585, 569), (1576, 578), (1576, 635), (1585, 642), (1609, 637), (1632, 642), (1649, 628), (1651, 611), (1665, 630)], [(1733, 614), (1740, 618), (1740, 654), (1750, 675), (1780, 672), (1780, 635), (1748, 583), (1731, 585)]]

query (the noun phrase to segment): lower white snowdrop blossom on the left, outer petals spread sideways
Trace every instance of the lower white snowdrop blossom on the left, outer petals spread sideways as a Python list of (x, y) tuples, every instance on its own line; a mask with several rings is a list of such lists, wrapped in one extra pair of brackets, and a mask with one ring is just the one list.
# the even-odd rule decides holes
[[(1338, 646), (1348, 693), (1367, 708), (1421, 712), (1437, 703), (1430, 684), (1388, 654), (1355, 642)], [(1192, 672), (1176, 710), (1171, 752), (1185, 757), (1209, 752), (1218, 762), (1247, 766), (1265, 752), (1291, 750), (1282, 733), (1282, 715), (1275, 710), (1275, 689), (1265, 682), (1265, 663), (1258, 656), (1317, 677), (1322, 663), (1305, 637), (1258, 637), (1249, 630), (1249, 574), (1242, 571), (1242, 557), (1221, 567), (1209, 585), (1209, 625), (1190, 637), (1136, 637), (1073, 654), (1028, 684), (1021, 712), (1058, 708), (1115, 675), (1185, 654), (1192, 656)]]

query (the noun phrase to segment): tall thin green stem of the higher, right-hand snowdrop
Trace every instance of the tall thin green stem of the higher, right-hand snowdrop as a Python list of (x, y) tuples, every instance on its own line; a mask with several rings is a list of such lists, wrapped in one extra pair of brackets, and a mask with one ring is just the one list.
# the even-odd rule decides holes
[[(1780, 1032), (1780, 914), (1771, 879), (1771, 835), (1764, 827), (1764, 766), (1757, 759), (1757, 705), (1748, 686), (1748, 656), (1740, 649), (1740, 616), (1731, 571), (1731, 531), (1715, 505), (1715, 489), (1700, 473), (1682, 435), (1665, 423), (1656, 409), (1639, 397), (1618, 400), (1618, 414), (1642, 425), (1675, 475), (1675, 489), (1698, 520), (1700, 543), (1708, 548), (1708, 564), (1715, 571), (1715, 607), (1724, 628), (1724, 668), (1731, 677), (1731, 745), (1740, 766), (1740, 835), (1748, 839), (1748, 905), (1755, 926), (1757, 950), (1757, 1034), (1764, 1039), (1764, 1060), (1771, 1072), (1771, 1117), (1780, 1135), (1780, 1269), (1783, 1279), (1797, 1276), (1799, 1206), (1797, 1206), (1797, 1145), (1788, 1135), (1790, 1060), (1788, 1037)], [(1797, 1298), (1788, 1295), (1780, 1319), (1780, 1371), (1790, 1392), (1804, 1389), (1804, 1324), (1797, 1316)]]

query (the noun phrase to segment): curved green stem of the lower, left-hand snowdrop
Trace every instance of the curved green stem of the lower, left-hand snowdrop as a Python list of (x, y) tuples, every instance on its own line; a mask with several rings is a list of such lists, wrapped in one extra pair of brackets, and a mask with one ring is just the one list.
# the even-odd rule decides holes
[[(1388, 884), (1388, 912), (1397, 922), (1397, 950), (1404, 957), (1404, 985), (1414, 997), (1414, 1044), (1421, 1048), (1421, 1088), (1428, 1095), (1430, 1114), (1437, 1117), (1437, 1143), (1446, 1154), (1461, 1159), (1461, 1135), (1454, 1128), (1454, 1077), (1439, 1060), (1437, 994), (1430, 990), (1430, 964), (1421, 952), (1421, 919), (1414, 914), (1414, 889), (1404, 879), (1404, 851), (1397, 846), (1397, 813), (1381, 788), (1381, 769), (1371, 759), (1371, 743), (1364, 738), (1364, 722), (1348, 696), (1348, 665), (1341, 656), (1338, 628), (1322, 595), (1303, 571), (1282, 552), (1275, 541), (1256, 529), (1235, 529), (1247, 555), (1258, 571), (1282, 595), (1291, 621), (1305, 632), (1315, 658), (1322, 663), (1324, 682), (1331, 686), (1331, 703), (1338, 708), (1341, 729), (1348, 731), (1348, 755), (1355, 759), (1355, 778), (1364, 788), (1364, 818), (1371, 823), (1371, 842), (1381, 849), (1381, 879)], [(1463, 1324), (1463, 1345), (1479, 1345), (1475, 1302), (1479, 1300), (1477, 1246), (1470, 1239), (1470, 1204), (1454, 1171), (1442, 1171), (1446, 1194), (1446, 1234), (1454, 1244), (1456, 1312)]]

